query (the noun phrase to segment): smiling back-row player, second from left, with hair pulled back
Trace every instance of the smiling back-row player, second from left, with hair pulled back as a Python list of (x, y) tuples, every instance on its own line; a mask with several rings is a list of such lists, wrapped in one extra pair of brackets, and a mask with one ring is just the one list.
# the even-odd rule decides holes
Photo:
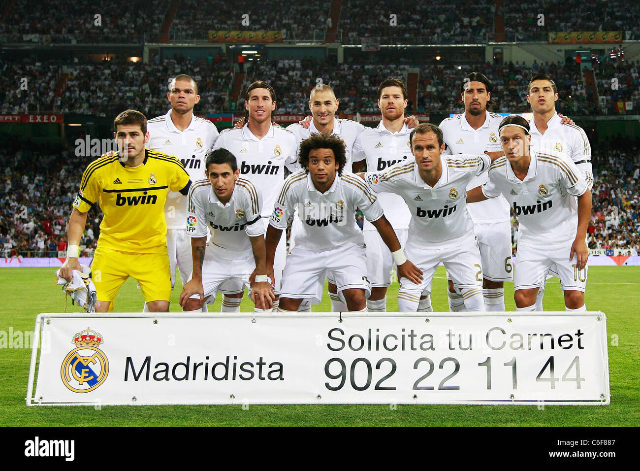
[[(242, 128), (225, 129), (220, 133), (213, 149), (227, 149), (237, 156), (239, 170), (243, 178), (251, 181), (259, 188), (264, 198), (262, 206), (262, 222), (266, 228), (271, 218), (271, 210), (275, 203), (278, 188), (282, 185), (285, 166), (292, 172), (297, 170), (296, 136), (274, 126), (273, 112), (276, 109), (276, 94), (273, 87), (264, 81), (255, 81), (244, 94), (244, 118)], [(277, 308), (277, 295), (280, 293), (280, 282), (284, 259), (287, 255), (286, 241), (278, 245), (275, 257), (274, 291)], [(238, 312), (243, 289), (237, 283), (224, 283), (220, 291), (223, 297), (223, 311)], [(225, 304), (227, 306), (225, 307)]]

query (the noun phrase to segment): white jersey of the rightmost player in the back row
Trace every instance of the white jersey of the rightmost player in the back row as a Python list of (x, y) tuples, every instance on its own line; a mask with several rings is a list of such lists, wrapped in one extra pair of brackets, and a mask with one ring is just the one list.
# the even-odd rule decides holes
[(539, 151), (564, 153), (575, 163), (589, 186), (593, 188), (593, 168), (591, 167), (591, 144), (584, 129), (575, 124), (562, 124), (562, 118), (554, 113), (547, 122), (544, 134), (536, 128), (534, 119), (529, 123), (531, 145)]

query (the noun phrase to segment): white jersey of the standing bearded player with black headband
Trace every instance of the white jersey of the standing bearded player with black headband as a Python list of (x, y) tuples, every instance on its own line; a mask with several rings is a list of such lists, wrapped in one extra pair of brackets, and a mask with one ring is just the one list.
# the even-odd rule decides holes
[[(444, 134), (444, 143), (447, 145), (444, 154), (479, 154), (484, 151), (502, 151), (498, 133), (502, 116), (497, 113), (485, 113), (484, 124), (478, 129), (470, 126), (465, 113), (445, 118), (440, 123), (440, 129)], [(486, 173), (473, 178), (467, 186), (467, 190), (482, 185), (486, 180)], [(467, 206), (467, 211), (469, 211), (474, 224), (510, 220), (509, 204), (504, 197), (474, 202)]]

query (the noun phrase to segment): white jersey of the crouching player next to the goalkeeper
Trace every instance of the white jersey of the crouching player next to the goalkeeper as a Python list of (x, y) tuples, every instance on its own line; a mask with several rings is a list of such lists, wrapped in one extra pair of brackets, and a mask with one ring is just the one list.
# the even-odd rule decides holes
[(209, 180), (196, 181), (189, 188), (187, 234), (205, 237), (211, 231), (214, 251), (231, 256), (252, 253), (250, 236), (264, 234), (260, 217), (262, 195), (250, 181), (236, 180), (234, 192), (227, 204), (222, 204)]

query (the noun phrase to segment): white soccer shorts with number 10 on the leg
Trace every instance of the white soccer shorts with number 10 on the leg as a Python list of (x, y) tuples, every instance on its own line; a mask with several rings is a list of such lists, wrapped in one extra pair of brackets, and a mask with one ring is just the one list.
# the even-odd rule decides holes
[(560, 278), (563, 290), (584, 291), (587, 286), (588, 268), (577, 269), (577, 256), (569, 260), (572, 242), (565, 245), (548, 245), (547, 247), (531, 247), (518, 244), (518, 255), (515, 263), (514, 288), (527, 290), (539, 288), (545, 284), (550, 271)]

